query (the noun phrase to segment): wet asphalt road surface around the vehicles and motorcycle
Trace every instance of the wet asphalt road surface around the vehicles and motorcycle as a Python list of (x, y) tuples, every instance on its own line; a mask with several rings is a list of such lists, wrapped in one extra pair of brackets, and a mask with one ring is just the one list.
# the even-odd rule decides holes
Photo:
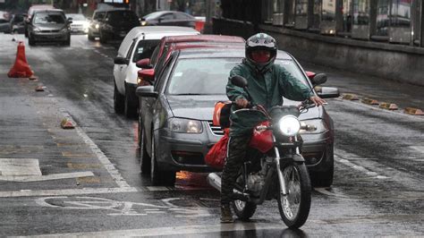
[[(11, 39), (0, 34), (0, 163), (23, 161), (28, 174), (35, 163), (42, 176), (19, 181), (0, 174), (2, 236), (424, 235), (423, 116), (327, 100), (335, 121), (335, 183), (313, 191), (307, 223), (285, 229), (276, 201), (267, 201), (250, 223), (221, 225), (219, 194), (206, 174), (180, 173), (175, 188), (151, 186), (140, 174), (137, 122), (114, 114), (114, 45), (80, 35), (71, 47), (27, 46), (39, 77), (28, 81), (6, 76), (16, 54)], [(326, 86), (342, 92), (424, 108), (422, 87), (305, 69), (326, 72)], [(46, 91), (36, 92), (38, 85)], [(66, 116), (76, 130), (60, 128)]]

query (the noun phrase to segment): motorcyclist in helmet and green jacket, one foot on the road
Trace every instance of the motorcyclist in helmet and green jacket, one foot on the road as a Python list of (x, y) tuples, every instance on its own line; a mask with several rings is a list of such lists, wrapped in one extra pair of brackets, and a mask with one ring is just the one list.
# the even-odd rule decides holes
[[(274, 64), (277, 52), (276, 39), (265, 33), (255, 34), (247, 39), (245, 52), (242, 64), (233, 67), (230, 78), (234, 75), (244, 77), (248, 81), (251, 98), (244, 89), (228, 81), (227, 97), (236, 103), (232, 106), (232, 112), (249, 106), (250, 101), (266, 108), (282, 105), (283, 97), (296, 101), (309, 98), (317, 106), (325, 103), (283, 66)], [(233, 200), (236, 175), (246, 156), (251, 130), (260, 122), (260, 118), (254, 116), (241, 118), (233, 113), (230, 119), (230, 140), (221, 185), (221, 222), (223, 223), (233, 222), (230, 202)]]

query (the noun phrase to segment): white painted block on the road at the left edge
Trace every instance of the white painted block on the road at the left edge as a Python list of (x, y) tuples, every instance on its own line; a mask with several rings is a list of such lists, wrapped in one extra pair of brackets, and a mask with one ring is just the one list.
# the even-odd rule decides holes
[(0, 180), (5, 176), (40, 176), (36, 158), (0, 158)]

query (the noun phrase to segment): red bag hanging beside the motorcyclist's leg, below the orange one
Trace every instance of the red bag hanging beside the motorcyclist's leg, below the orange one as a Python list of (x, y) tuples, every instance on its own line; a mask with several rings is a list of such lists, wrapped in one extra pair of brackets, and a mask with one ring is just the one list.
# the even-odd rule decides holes
[(228, 140), (230, 140), (230, 129), (227, 128), (224, 130), (224, 136), (209, 149), (205, 157), (206, 165), (220, 170), (224, 168)]

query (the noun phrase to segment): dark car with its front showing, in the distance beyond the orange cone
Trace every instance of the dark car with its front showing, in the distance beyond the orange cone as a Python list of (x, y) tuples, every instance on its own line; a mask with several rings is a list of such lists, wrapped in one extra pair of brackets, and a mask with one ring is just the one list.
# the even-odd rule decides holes
[(34, 46), (41, 41), (58, 41), (71, 45), (70, 24), (64, 11), (59, 9), (37, 11), (28, 23), (28, 41)]

